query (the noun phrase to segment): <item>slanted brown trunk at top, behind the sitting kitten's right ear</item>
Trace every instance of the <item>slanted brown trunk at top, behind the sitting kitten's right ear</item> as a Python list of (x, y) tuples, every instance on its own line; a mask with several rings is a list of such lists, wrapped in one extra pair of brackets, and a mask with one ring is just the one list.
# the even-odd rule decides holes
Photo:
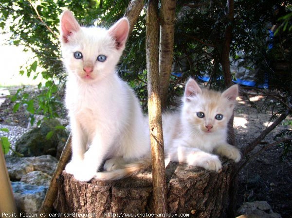
[(134, 29), (134, 25), (137, 22), (140, 13), (144, 6), (144, 0), (131, 0), (128, 8), (125, 12), (125, 17), (128, 17), (129, 23), (130, 23), (130, 29), (129, 33), (131, 33)]

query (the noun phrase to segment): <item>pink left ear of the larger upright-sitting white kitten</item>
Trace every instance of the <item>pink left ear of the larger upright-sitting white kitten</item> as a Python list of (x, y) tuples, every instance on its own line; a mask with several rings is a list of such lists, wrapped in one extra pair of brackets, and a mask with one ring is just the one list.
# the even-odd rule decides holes
[(61, 23), (61, 40), (64, 43), (69, 42), (68, 36), (80, 30), (80, 25), (73, 16), (72, 12), (65, 10), (60, 19)]

